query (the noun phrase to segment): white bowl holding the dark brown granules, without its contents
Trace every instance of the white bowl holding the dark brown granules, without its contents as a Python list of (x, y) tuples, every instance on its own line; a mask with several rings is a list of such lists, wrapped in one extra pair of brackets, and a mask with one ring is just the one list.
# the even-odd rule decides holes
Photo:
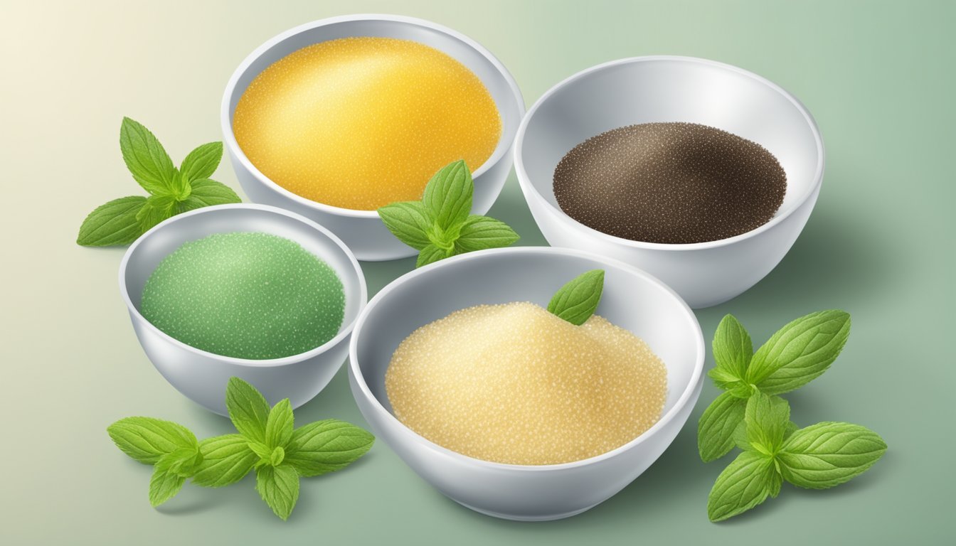
[[(654, 121), (703, 123), (770, 150), (787, 172), (787, 193), (776, 215), (728, 239), (668, 245), (602, 233), (558, 207), (554, 167), (564, 154), (604, 131)], [(549, 243), (638, 266), (700, 308), (743, 293), (793, 246), (820, 191), (823, 142), (807, 109), (763, 77), (705, 59), (644, 56), (589, 68), (545, 93), (518, 129), (514, 164)]]

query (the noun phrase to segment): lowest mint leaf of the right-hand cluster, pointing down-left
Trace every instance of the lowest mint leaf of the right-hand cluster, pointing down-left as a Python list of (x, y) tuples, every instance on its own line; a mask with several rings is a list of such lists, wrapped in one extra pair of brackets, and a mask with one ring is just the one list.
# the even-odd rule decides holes
[(760, 453), (744, 451), (717, 476), (707, 497), (707, 517), (722, 521), (767, 500), (780, 491), (780, 473), (773, 460)]

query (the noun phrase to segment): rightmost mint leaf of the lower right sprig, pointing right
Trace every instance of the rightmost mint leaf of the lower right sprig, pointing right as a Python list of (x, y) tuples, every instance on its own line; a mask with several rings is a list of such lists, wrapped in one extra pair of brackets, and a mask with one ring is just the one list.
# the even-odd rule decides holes
[(858, 476), (885, 452), (886, 443), (869, 428), (827, 422), (793, 432), (777, 460), (788, 482), (821, 490)]

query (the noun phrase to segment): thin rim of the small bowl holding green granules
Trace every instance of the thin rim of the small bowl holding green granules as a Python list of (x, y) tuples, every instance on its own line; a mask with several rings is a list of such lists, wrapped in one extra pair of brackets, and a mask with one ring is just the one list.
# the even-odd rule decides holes
[[(309, 228), (315, 229), (315, 231), (317, 232), (319, 236), (324, 236), (325, 238), (335, 243), (337, 247), (341, 251), (343, 251), (345, 253), (345, 256), (349, 259), (349, 263), (352, 264), (352, 268), (353, 268), (352, 273), (354, 273), (359, 280), (359, 310), (358, 310), (358, 313), (356, 313), (356, 317), (353, 318), (352, 321), (349, 322), (348, 324), (345, 324), (344, 326), (339, 327), (339, 331), (333, 339), (329, 339), (325, 343), (322, 343), (321, 345), (313, 349), (310, 349), (304, 353), (290, 355), (288, 357), (281, 357), (278, 359), (262, 359), (262, 360), (240, 359), (237, 357), (228, 357), (226, 355), (218, 355), (216, 353), (210, 353), (209, 351), (205, 351), (203, 349), (198, 349), (196, 347), (193, 347), (192, 345), (188, 345), (184, 343), (183, 341), (180, 341), (179, 339), (175, 339), (172, 336), (166, 334), (165, 332), (157, 328), (146, 317), (143, 317), (142, 314), (140, 313), (140, 310), (137, 309), (135, 305), (133, 305), (133, 300), (130, 299), (129, 297), (129, 289), (126, 286), (126, 269), (129, 265), (130, 258), (132, 257), (133, 253), (137, 250), (137, 248), (140, 246), (141, 242), (146, 240), (146, 238), (151, 236), (153, 233), (162, 231), (163, 229), (166, 229), (166, 227), (178, 221), (181, 221), (185, 218), (188, 218), (190, 216), (197, 216), (200, 214), (215, 214), (221, 210), (230, 210), (230, 209), (260, 210), (260, 211), (268, 212), (271, 214), (286, 216), (302, 224), (305, 224)], [(290, 239), (290, 240), (293, 240), (293, 239)], [(295, 242), (298, 243), (298, 241), (295, 241)], [(361, 271), (361, 266), (359, 266), (359, 260), (356, 259), (355, 254), (353, 254), (352, 251), (349, 250), (349, 248), (345, 245), (345, 243), (343, 243), (341, 239), (339, 239), (336, 236), (336, 234), (330, 231), (329, 229), (326, 229), (316, 224), (315, 222), (313, 222), (312, 220), (309, 220), (308, 218), (302, 216), (301, 214), (296, 214), (295, 212), (286, 210), (284, 208), (272, 207), (269, 205), (258, 205), (253, 203), (234, 203), (234, 204), (228, 204), (228, 205), (214, 205), (211, 207), (202, 207), (202, 208), (197, 208), (195, 210), (189, 210), (181, 214), (177, 214), (171, 218), (167, 218), (166, 220), (163, 220), (163, 222), (157, 224), (152, 229), (149, 229), (148, 231), (140, 235), (140, 237), (137, 238), (137, 240), (134, 241), (133, 244), (129, 246), (129, 249), (127, 249), (126, 252), (123, 254), (122, 261), (120, 262), (120, 295), (122, 295), (122, 299), (126, 303), (126, 308), (129, 310), (130, 314), (136, 317), (136, 319), (138, 319), (142, 324), (144, 324), (145, 327), (152, 334), (159, 336), (161, 339), (165, 340), (168, 343), (172, 343), (173, 345), (189, 353), (193, 353), (195, 355), (205, 357), (206, 359), (217, 360), (217, 361), (225, 362), (228, 364), (247, 366), (251, 368), (271, 368), (271, 367), (284, 366), (288, 364), (294, 364), (304, 360), (310, 360), (328, 350), (331, 350), (333, 347), (341, 343), (342, 339), (345, 339), (348, 336), (350, 336), (352, 334), (353, 329), (356, 326), (356, 323), (359, 320), (359, 316), (361, 316), (362, 312), (365, 310), (365, 305), (367, 304), (367, 299), (368, 299), (368, 288), (365, 285), (365, 275)]]

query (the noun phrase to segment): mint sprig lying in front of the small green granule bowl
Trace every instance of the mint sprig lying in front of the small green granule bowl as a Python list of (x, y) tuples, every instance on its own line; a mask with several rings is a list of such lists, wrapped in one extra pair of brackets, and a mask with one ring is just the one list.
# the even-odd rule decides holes
[(256, 474), (256, 491), (283, 520), (298, 500), (299, 478), (340, 470), (359, 459), (375, 437), (358, 426), (328, 419), (294, 427), (292, 404), (270, 407), (250, 383), (228, 382), (229, 419), (239, 431), (197, 442), (185, 426), (148, 417), (120, 419), (107, 432), (120, 450), (153, 465), (149, 501), (159, 506), (189, 478), (220, 488)]

